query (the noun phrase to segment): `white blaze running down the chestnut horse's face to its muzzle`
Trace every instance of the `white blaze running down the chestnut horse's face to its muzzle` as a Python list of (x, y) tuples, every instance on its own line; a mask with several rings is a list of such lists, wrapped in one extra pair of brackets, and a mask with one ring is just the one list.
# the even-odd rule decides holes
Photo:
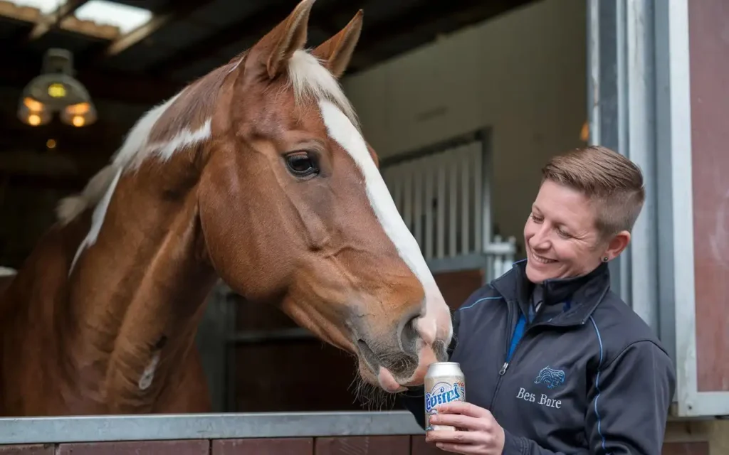
[(367, 186), (367, 197), (384, 231), (394, 243), (399, 256), (423, 285), (426, 314), (418, 320), (418, 333), (429, 344), (436, 338), (450, 341), (453, 335), (450, 309), (435, 284), (418, 242), (397, 211), (390, 191), (370, 156), (367, 144), (364, 143), (364, 138), (335, 104), (328, 100), (320, 100), (319, 108), (330, 137), (350, 154), (362, 171), (364, 184)]

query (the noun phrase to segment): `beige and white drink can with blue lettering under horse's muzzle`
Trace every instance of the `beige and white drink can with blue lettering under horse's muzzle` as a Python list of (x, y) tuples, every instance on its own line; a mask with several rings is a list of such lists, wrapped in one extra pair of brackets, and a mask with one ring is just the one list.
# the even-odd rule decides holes
[(466, 400), (466, 378), (457, 362), (434, 362), (425, 374), (425, 430), (456, 430), (450, 425), (431, 425), (437, 405)]

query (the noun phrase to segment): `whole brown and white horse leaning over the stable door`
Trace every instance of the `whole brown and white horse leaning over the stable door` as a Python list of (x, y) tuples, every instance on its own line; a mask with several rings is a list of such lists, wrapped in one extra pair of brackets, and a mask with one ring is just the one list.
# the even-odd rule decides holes
[(0, 414), (208, 411), (193, 339), (219, 279), (387, 392), (445, 357), (448, 306), (337, 80), (362, 12), (305, 50), (312, 4), (149, 111), (61, 202), (2, 296)]

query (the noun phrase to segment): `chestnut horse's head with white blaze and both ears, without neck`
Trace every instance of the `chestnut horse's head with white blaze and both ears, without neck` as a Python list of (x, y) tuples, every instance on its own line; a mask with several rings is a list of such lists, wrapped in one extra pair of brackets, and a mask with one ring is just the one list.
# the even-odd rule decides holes
[(362, 12), (305, 50), (303, 0), (221, 87), (200, 179), (211, 263), (248, 301), (280, 302), (396, 392), (445, 359), (451, 315), (340, 89)]

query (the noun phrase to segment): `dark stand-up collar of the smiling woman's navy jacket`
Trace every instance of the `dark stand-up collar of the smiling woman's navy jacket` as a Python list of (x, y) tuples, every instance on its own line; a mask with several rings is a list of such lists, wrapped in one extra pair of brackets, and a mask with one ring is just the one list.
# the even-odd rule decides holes
[[(529, 314), (534, 283), (526, 277), (526, 259), (515, 263), (510, 272), (496, 278), (491, 285), (507, 302), (517, 304), (523, 314)], [(584, 324), (609, 290), (610, 272), (607, 264), (601, 263), (588, 274), (545, 280), (541, 286), (543, 305), (561, 304), (564, 308), (553, 317), (551, 324)]]

